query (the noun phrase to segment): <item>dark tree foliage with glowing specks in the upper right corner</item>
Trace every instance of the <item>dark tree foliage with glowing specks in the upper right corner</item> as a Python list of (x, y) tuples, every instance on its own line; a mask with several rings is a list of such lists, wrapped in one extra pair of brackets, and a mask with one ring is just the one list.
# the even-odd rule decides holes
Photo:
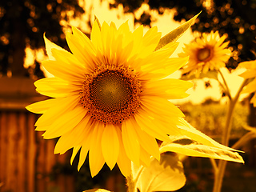
[[(134, 13), (143, 2), (147, 2), (151, 10), (158, 10), (158, 14), (163, 14), (164, 8), (177, 10), (174, 15), (176, 21), (181, 21), (183, 18), (188, 20), (202, 10), (192, 30), (201, 33), (218, 30), (221, 35), (229, 35), (228, 40), (234, 50), (234, 57), (230, 58), (227, 67), (235, 68), (238, 62), (255, 59), (253, 54), (256, 50), (255, 0), (115, 0), (110, 7), (122, 4), (126, 12)], [(150, 15), (144, 13), (135, 22), (150, 25)]]

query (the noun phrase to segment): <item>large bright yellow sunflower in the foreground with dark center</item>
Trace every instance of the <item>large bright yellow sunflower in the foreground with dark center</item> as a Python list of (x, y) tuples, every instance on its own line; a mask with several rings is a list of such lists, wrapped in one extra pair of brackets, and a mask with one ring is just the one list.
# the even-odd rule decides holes
[(42, 114), (35, 126), (43, 138), (58, 138), (55, 154), (73, 148), (72, 164), (80, 150), (78, 170), (88, 154), (92, 176), (105, 162), (127, 176), (131, 162), (148, 166), (150, 156), (160, 158), (156, 139), (168, 142), (178, 133), (184, 115), (169, 99), (185, 98), (192, 83), (166, 77), (188, 58), (170, 58), (177, 42), (154, 51), (157, 27), (143, 35), (143, 26), (131, 32), (128, 22), (119, 28), (94, 22), (90, 38), (72, 31), (66, 34), (72, 53), (45, 38), (50, 60), (42, 66), (54, 78), (34, 85), (50, 99), (26, 109)]

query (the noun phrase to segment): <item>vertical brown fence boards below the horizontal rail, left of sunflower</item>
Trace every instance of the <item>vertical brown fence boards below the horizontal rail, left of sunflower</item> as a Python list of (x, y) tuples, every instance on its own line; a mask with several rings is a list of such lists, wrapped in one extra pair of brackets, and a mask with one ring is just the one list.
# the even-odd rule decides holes
[(37, 115), (26, 111), (0, 111), (0, 192), (74, 191), (74, 178), (50, 172), (66, 154), (54, 154), (54, 140), (34, 131)]

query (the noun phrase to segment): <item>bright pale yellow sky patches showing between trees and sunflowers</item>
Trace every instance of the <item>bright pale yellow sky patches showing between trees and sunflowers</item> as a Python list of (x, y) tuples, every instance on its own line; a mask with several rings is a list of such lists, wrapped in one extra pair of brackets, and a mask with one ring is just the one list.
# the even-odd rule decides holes
[[(86, 2), (86, 3), (84, 3)], [(158, 31), (162, 32), (162, 36), (169, 33), (171, 30), (174, 30), (178, 26), (181, 25), (181, 22), (175, 22), (174, 12), (175, 10), (165, 10), (164, 14), (159, 15), (157, 10), (149, 10), (149, 6), (146, 3), (142, 4), (142, 7), (137, 10), (134, 15), (133, 14), (124, 14), (122, 5), (119, 5), (118, 8), (109, 9), (110, 0), (86, 0), (81, 1), (81, 6), (85, 7), (86, 14), (82, 15), (82, 18), (77, 18), (70, 21), (69, 25), (77, 26), (79, 29), (84, 31), (85, 33), (90, 33), (90, 27), (87, 26), (87, 22), (94, 22), (94, 15), (97, 16), (99, 22), (106, 21), (107, 23), (115, 22), (116, 26), (120, 26), (123, 22), (128, 20), (130, 30), (136, 29), (138, 26), (134, 26), (134, 15), (136, 18), (139, 18), (140, 15), (146, 11), (151, 15), (151, 26), (158, 26)], [(90, 16), (89, 16), (90, 15)], [(199, 16), (200, 17), (200, 16)], [(182, 22), (186, 22), (185, 20)], [(63, 22), (65, 25), (66, 23)], [(146, 32), (149, 28), (147, 26), (144, 27)], [(182, 35), (181, 38), (178, 39), (177, 42), (180, 42), (177, 50), (174, 52), (172, 57), (178, 57), (178, 53), (182, 52), (182, 47), (184, 43), (191, 42), (194, 39), (194, 35), (191, 30), (187, 30), (185, 34)], [(43, 54), (44, 50), (37, 50), (36, 53), (31, 51), (29, 48), (26, 49), (26, 66), (30, 66), (34, 63), (34, 58), (36, 57), (38, 61), (46, 60), (47, 57)], [(241, 70), (235, 70), (234, 73), (230, 74), (228, 70), (223, 69), (222, 73), (226, 77), (226, 81), (230, 86), (231, 94), (234, 95), (239, 88), (239, 85), (242, 83), (242, 78), (238, 77), (238, 74), (241, 74)], [(46, 76), (49, 76), (46, 72)], [(180, 78), (181, 72), (177, 71), (172, 74), (171, 78)], [(222, 102), (226, 102), (225, 98), (222, 98), (222, 91), (218, 86), (218, 82), (216, 80), (210, 80), (211, 87), (205, 88), (205, 83), (202, 80), (194, 81), (196, 84), (195, 89), (188, 90), (190, 96), (188, 98), (184, 98), (182, 100), (176, 101), (176, 103), (183, 102), (193, 102), (194, 104), (198, 104), (203, 102), (206, 98), (213, 98), (214, 100), (222, 100)]]

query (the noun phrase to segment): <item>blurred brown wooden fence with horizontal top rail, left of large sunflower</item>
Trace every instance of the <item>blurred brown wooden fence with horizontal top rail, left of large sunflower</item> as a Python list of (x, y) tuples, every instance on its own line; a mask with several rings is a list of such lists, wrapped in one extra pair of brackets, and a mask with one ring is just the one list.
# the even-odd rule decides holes
[(51, 178), (53, 166), (66, 161), (54, 154), (54, 140), (34, 131), (37, 114), (25, 106), (44, 99), (29, 78), (0, 78), (0, 191), (74, 191), (74, 178)]

